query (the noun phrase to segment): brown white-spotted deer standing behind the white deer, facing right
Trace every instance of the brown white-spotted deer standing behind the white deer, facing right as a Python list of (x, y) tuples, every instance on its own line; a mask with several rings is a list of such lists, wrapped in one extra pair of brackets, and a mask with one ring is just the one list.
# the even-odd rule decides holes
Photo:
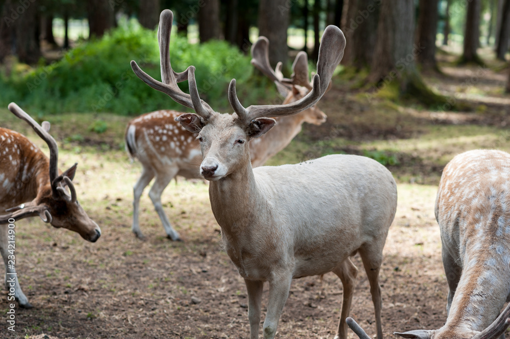
[[(251, 47), (251, 63), (274, 81), (278, 91), (285, 96), (283, 105), (295, 102), (311, 90), (307, 54), (300, 52), (292, 66), (291, 79), (285, 79), (279, 63), (276, 72), (269, 66), (267, 38), (262, 37)], [(126, 150), (133, 159), (142, 164), (142, 174), (133, 188), (133, 224), (132, 231), (136, 237), (143, 239), (139, 223), (140, 197), (150, 180), (155, 177), (149, 191), (167, 238), (180, 240), (179, 233), (172, 227), (161, 204), (161, 194), (176, 176), (201, 178), (200, 144), (197, 134), (188, 132), (175, 118), (183, 112), (172, 110), (156, 111), (143, 114), (129, 123), (124, 136)], [(315, 105), (303, 112), (276, 118), (276, 125), (271, 131), (250, 142), (250, 159), (253, 167), (259, 167), (273, 155), (284, 149), (292, 139), (301, 132), (303, 122), (320, 125), (326, 121), (326, 115)]]

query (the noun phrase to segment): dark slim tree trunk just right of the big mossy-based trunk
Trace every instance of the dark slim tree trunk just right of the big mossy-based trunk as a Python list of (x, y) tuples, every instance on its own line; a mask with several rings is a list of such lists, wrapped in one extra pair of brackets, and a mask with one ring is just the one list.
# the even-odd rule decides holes
[(416, 44), (422, 49), (416, 57), (425, 69), (437, 69), (436, 34), (438, 28), (438, 0), (420, 0), (418, 36)]

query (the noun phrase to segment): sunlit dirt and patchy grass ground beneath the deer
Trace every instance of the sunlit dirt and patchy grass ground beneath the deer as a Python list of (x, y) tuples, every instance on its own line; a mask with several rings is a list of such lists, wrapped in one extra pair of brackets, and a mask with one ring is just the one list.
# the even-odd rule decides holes
[[(360, 90), (362, 74), (339, 76), (319, 106), (322, 126), (303, 132), (271, 165), (295, 163), (329, 153), (369, 155), (388, 164), (398, 182), (397, 214), (380, 272), (384, 335), (436, 329), (446, 320), (447, 285), (439, 227), (433, 205), (444, 165), (474, 148), (510, 150), (510, 97), (503, 88), (508, 69), (491, 64), (456, 67), (443, 54), (443, 74), (426, 74), (439, 93), (454, 95), (469, 111), (430, 111), (402, 103), (381, 90)], [(477, 75), (477, 72), (478, 75)], [(2, 126), (42, 142), (7, 110)], [(5, 119), (4, 119), (5, 117)], [(1, 338), (246, 338), (249, 325), (243, 279), (222, 250), (220, 228), (201, 180), (171, 182), (165, 211), (184, 242), (165, 238), (145, 194), (141, 229), (131, 232), (132, 186), (140, 165), (122, 149), (129, 118), (109, 114), (40, 116), (52, 122), (61, 169), (78, 162), (74, 182), (81, 204), (101, 227), (97, 243), (55, 229), (38, 218), (16, 223), (16, 268), (32, 309), (15, 308), (16, 331), (7, 331), (7, 292), (0, 293)], [(100, 124), (104, 133), (89, 131)], [(47, 150), (47, 147), (43, 147)], [(146, 191), (147, 192), (147, 191)], [(32, 248), (32, 250), (30, 250)], [(350, 316), (375, 335), (369, 284), (359, 268)], [(296, 279), (278, 326), (278, 338), (333, 338), (342, 285), (334, 274)], [(263, 317), (267, 285), (263, 297)], [(261, 326), (262, 327), (262, 326)], [(349, 331), (349, 338), (355, 335)]]

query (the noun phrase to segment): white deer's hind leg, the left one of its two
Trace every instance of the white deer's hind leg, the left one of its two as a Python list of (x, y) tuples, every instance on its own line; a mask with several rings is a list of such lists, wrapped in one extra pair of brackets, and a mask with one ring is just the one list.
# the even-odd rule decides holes
[(334, 339), (347, 339), (347, 324), (345, 323), (345, 319), (349, 316), (352, 304), (352, 295), (354, 294), (354, 284), (356, 282), (356, 275), (358, 275), (358, 268), (356, 268), (350, 258), (347, 257), (347, 259), (333, 270), (333, 273), (338, 275), (343, 286), (342, 312), (340, 314), (338, 331)]

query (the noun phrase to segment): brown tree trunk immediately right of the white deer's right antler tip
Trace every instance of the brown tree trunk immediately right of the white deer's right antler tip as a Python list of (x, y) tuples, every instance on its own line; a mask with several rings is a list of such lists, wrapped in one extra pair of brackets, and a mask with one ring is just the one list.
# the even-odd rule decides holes
[(369, 67), (377, 40), (380, 5), (377, 0), (349, 0), (348, 21), (344, 28), (346, 48), (343, 64), (356, 69)]

